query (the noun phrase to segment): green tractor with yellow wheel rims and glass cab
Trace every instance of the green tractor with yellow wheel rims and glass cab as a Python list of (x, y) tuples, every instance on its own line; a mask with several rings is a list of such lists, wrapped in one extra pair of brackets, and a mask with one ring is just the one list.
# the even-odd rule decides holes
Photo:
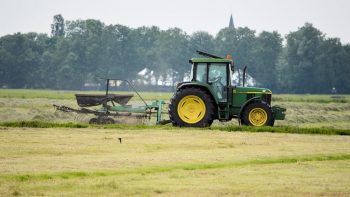
[(174, 126), (208, 127), (214, 120), (237, 118), (243, 125), (273, 126), (284, 120), (286, 109), (271, 106), (272, 92), (266, 88), (234, 86), (232, 58), (197, 51), (204, 58), (192, 58), (189, 82), (181, 82), (169, 105)]

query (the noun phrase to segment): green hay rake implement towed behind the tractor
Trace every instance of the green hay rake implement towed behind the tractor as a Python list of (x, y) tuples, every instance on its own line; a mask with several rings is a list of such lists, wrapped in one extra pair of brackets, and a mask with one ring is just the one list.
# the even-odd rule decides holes
[[(147, 103), (134, 86), (127, 80), (121, 79), (105, 79), (106, 93), (105, 94), (75, 94), (80, 109), (74, 109), (67, 106), (54, 105), (54, 107), (63, 112), (75, 112), (78, 114), (93, 114), (94, 118), (89, 120), (89, 124), (114, 124), (118, 122), (118, 118), (132, 117), (136, 119), (151, 119), (156, 117), (157, 124), (164, 124), (162, 121), (162, 109), (165, 102), (163, 100), (155, 100)], [(133, 106), (128, 104), (133, 94), (111, 94), (109, 92), (110, 85), (124, 83), (132, 88), (142, 101), (142, 105)], [(90, 109), (89, 107), (100, 106), (99, 109)]]

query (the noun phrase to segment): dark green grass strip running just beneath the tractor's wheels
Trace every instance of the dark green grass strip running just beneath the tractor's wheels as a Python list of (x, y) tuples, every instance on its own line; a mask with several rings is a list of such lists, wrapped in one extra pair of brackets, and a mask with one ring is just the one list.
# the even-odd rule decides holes
[[(89, 125), (81, 123), (53, 123), (42, 121), (14, 121), (0, 122), (2, 127), (29, 127), (29, 128), (98, 128), (98, 129), (120, 129), (120, 130), (138, 130), (138, 129), (179, 129), (171, 125), (126, 125), (126, 124), (111, 124), (111, 125)], [(183, 128), (188, 129), (188, 128)], [(199, 128), (202, 129), (202, 128)], [(206, 128), (208, 130), (220, 130), (227, 132), (243, 131), (243, 132), (271, 132), (271, 133), (296, 133), (296, 134), (321, 134), (321, 135), (350, 135), (349, 129), (335, 128), (303, 128), (292, 126), (276, 126), (276, 127), (250, 127), (250, 126), (213, 126)]]

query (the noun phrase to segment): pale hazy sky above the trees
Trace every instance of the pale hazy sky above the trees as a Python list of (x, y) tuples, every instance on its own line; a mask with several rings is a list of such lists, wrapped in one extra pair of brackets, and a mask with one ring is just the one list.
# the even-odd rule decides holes
[(131, 28), (179, 27), (215, 36), (233, 15), (236, 27), (278, 31), (282, 36), (312, 23), (327, 37), (350, 43), (350, 0), (0, 0), (0, 36), (50, 33), (53, 16), (98, 19)]

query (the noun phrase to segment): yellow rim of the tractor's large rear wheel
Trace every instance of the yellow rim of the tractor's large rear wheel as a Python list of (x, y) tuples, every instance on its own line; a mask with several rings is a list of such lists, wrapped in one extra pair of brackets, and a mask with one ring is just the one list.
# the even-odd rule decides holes
[(194, 95), (183, 97), (177, 105), (177, 113), (182, 121), (194, 124), (201, 121), (205, 115), (205, 103)]

